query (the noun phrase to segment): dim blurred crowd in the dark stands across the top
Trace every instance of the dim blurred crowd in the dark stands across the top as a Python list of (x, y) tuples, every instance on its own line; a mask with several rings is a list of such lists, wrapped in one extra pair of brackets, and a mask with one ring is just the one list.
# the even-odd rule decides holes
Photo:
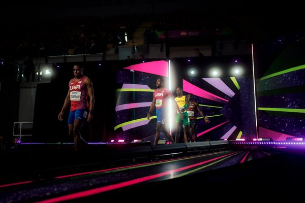
[(0, 57), (104, 53), (125, 44), (126, 35), (131, 42), (133, 33), (144, 22), (150, 22), (143, 33), (145, 44), (160, 43), (160, 39), (166, 37), (168, 30), (197, 30), (205, 36), (211, 36), (212, 29), (215, 28), (211, 28), (215, 26), (212, 23), (217, 23), (218, 27), (224, 25), (219, 24), (217, 19), (210, 18), (198, 12), (172, 12), (160, 15), (33, 19), (8, 25), (0, 31)]

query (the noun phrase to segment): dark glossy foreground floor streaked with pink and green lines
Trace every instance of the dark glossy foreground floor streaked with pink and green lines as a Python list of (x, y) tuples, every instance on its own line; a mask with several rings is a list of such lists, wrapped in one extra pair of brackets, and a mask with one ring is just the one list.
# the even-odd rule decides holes
[[(279, 159), (283, 154), (226, 150), (182, 157), (172, 155), (155, 161), (116, 164), (107, 168), (93, 164), (92, 167), (83, 167), (86, 170), (74, 168), (70, 173), (63, 168), (35, 179), (23, 176), (20, 181), (3, 182), (0, 202), (83, 202), (105, 194), (140, 194), (150, 190), (177, 192), (180, 190), (177, 187), (184, 187), (184, 184), (187, 184), (188, 193), (190, 190), (192, 193), (206, 192), (216, 184), (220, 184), (219, 191), (232, 191), (234, 181), (241, 185), (252, 184), (244, 178), (253, 176), (250, 180), (254, 181), (255, 177), (262, 175), (263, 171), (258, 170), (260, 166), (266, 170), (275, 167), (271, 164), (275, 157)], [(250, 167), (249, 162), (253, 162)], [(269, 170), (266, 176), (272, 173)], [(253, 174), (247, 174), (249, 171)]]

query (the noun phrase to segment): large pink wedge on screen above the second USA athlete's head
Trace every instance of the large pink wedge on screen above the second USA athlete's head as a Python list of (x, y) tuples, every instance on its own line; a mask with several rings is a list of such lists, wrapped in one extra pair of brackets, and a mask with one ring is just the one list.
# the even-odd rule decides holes
[(124, 69), (168, 77), (168, 62), (164, 60), (130, 65), (128, 67), (124, 67)]

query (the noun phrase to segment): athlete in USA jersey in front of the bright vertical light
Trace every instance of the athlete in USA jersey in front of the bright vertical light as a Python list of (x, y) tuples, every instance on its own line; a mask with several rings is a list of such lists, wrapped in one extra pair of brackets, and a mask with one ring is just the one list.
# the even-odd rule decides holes
[[(164, 80), (163, 78), (158, 78), (156, 82), (157, 89), (154, 91), (154, 98), (153, 102), (151, 102), (150, 108), (148, 110), (147, 119), (150, 120), (150, 114), (154, 110), (156, 106), (156, 114), (157, 114), (157, 127), (156, 127), (156, 137), (154, 141), (154, 145), (156, 145), (160, 138), (160, 132), (161, 130), (166, 135), (167, 139), (171, 143), (175, 143), (173, 138), (171, 137), (170, 133), (166, 129), (165, 125), (165, 116), (166, 116), (166, 100), (169, 98), (172, 98), (174, 100), (174, 97), (172, 93), (164, 87)], [(175, 103), (175, 108), (179, 112), (180, 117), (182, 118), (182, 113), (177, 105)]]

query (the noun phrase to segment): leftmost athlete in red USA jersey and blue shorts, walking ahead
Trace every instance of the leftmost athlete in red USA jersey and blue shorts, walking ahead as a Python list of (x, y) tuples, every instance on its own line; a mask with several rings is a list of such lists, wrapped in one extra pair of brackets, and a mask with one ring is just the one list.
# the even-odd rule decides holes
[(85, 120), (90, 122), (93, 119), (94, 90), (92, 81), (83, 75), (83, 68), (80, 65), (73, 66), (73, 73), (75, 78), (69, 82), (68, 94), (62, 111), (58, 114), (58, 120), (63, 120), (64, 111), (71, 103), (68, 119), (69, 135), (74, 136), (74, 148), (78, 151), (82, 124)]

